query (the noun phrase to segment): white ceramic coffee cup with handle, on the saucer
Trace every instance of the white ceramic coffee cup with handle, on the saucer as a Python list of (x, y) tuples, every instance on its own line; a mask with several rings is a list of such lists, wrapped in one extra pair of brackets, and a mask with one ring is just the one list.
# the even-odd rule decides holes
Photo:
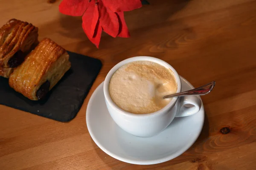
[[(159, 111), (146, 114), (134, 114), (119, 108), (109, 94), (109, 82), (113, 74), (122, 66), (134, 61), (151, 61), (171, 69), (177, 81), (177, 93), (181, 92), (179, 74), (167, 62), (154, 57), (140, 56), (125, 59), (115, 65), (107, 74), (104, 82), (105, 102), (112, 119), (116, 124), (128, 133), (135, 136), (150, 137), (164, 130), (175, 117), (190, 116), (197, 113), (201, 108), (201, 100), (196, 96), (174, 97), (168, 105)], [(193, 107), (185, 107), (191, 104)]]

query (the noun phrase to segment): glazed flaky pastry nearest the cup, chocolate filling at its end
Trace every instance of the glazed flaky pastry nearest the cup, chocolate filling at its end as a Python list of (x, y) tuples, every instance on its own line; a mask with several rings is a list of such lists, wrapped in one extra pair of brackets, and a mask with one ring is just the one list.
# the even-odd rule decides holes
[(9, 85), (31, 100), (38, 100), (57, 84), (70, 69), (67, 51), (45, 38), (14, 69)]

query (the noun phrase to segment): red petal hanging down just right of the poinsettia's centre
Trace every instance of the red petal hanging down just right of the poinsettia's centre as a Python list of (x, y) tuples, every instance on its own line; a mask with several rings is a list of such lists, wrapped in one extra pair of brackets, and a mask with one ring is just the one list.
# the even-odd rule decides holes
[(112, 37), (116, 37), (119, 31), (119, 21), (116, 14), (105, 7), (102, 1), (99, 1), (99, 21), (103, 31)]

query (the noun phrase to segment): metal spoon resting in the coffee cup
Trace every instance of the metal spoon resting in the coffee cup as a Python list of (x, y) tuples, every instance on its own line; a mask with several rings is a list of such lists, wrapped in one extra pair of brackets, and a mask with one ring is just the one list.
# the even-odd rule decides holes
[(181, 93), (176, 93), (176, 94), (170, 94), (170, 95), (163, 96), (163, 99), (168, 99), (168, 98), (177, 97), (177, 96), (205, 95), (205, 94), (210, 93), (210, 91), (212, 91), (214, 86), (215, 86), (215, 81), (210, 82), (206, 85), (203, 85), (199, 88), (194, 88), (194, 89), (189, 90), (189, 91), (184, 91), (184, 92), (181, 92)]

